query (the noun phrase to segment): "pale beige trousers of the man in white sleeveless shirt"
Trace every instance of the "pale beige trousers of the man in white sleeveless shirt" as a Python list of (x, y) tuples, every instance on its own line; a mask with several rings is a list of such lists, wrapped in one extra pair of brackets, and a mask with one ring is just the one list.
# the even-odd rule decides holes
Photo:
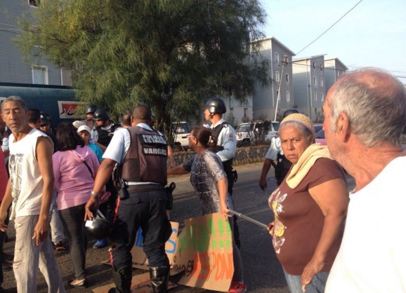
[(36, 245), (32, 239), (39, 215), (16, 217), (13, 271), (18, 293), (37, 292), (38, 268), (48, 284), (49, 293), (65, 293), (63, 280), (56, 264), (51, 239)]

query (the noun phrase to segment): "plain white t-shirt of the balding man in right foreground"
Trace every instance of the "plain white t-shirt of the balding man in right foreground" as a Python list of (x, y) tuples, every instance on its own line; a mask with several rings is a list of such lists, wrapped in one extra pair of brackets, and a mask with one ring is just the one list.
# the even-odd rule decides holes
[(326, 293), (406, 292), (406, 156), (351, 193)]

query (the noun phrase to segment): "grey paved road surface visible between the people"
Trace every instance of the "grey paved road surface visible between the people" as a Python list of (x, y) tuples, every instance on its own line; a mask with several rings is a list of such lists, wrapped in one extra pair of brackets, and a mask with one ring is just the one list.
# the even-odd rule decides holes
[[(272, 179), (273, 171), (268, 176), (268, 191), (262, 191), (258, 187), (258, 178), (261, 174), (262, 163), (241, 166), (238, 170), (238, 182), (235, 184), (234, 197), (237, 212), (247, 214), (259, 222), (269, 223), (272, 214), (268, 207), (268, 196), (275, 189), (275, 181)], [(271, 169), (272, 170), (272, 169)], [(200, 215), (199, 203), (192, 193), (188, 175), (170, 177), (169, 181), (176, 182), (177, 188), (174, 194), (174, 208), (171, 212), (171, 221), (183, 222), (183, 219)], [(242, 235), (241, 254), (244, 265), (244, 280), (247, 282), (248, 291), (255, 293), (277, 292), (286, 293), (286, 282), (282, 268), (275, 258), (273, 247), (268, 232), (260, 227), (239, 220), (240, 233)], [(12, 228), (12, 226), (11, 226)], [(9, 229), (11, 241), (5, 244), (4, 251), (13, 254), (13, 229)], [(91, 247), (93, 243), (89, 243)], [(63, 280), (67, 282), (73, 277), (72, 261), (67, 252), (56, 252)], [(91, 289), (112, 282), (110, 267), (100, 264), (100, 261), (108, 259), (107, 248), (94, 250), (89, 248), (87, 252), (86, 269), (88, 273), (89, 287), (86, 289), (70, 289), (67, 292), (92, 292)], [(145, 273), (135, 269), (133, 274)], [(8, 268), (4, 274), (2, 292), (15, 292), (15, 280), (13, 271)], [(41, 273), (37, 281), (37, 292), (47, 292), (46, 283)], [(1, 291), (1, 289), (0, 289)], [(171, 289), (173, 293), (199, 293), (210, 292), (204, 289), (178, 286)]]

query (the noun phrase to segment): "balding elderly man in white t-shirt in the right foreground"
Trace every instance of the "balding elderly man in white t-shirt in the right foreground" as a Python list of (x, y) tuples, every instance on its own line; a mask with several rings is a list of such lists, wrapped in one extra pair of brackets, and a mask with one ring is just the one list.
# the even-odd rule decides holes
[(352, 71), (329, 90), (323, 111), (327, 146), (355, 178), (325, 292), (405, 292), (405, 87), (379, 69)]

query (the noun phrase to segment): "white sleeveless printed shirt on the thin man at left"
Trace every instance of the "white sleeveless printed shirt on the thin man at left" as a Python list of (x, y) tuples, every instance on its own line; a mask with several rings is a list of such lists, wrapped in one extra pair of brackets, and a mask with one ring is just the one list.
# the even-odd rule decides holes
[(10, 136), (8, 168), (13, 196), (11, 219), (37, 215), (41, 210), (44, 182), (35, 156), (37, 139), (41, 136), (47, 137), (44, 132), (37, 129), (32, 129), (18, 142), (14, 142), (13, 135)]

